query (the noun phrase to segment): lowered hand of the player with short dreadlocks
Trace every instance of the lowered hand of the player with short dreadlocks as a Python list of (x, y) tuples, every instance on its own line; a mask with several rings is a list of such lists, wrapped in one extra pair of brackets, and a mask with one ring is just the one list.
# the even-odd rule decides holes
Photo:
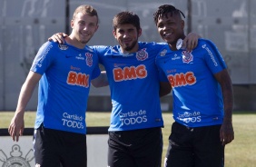
[(234, 140), (234, 131), (231, 122), (223, 122), (220, 130), (220, 139), (222, 145), (228, 144)]

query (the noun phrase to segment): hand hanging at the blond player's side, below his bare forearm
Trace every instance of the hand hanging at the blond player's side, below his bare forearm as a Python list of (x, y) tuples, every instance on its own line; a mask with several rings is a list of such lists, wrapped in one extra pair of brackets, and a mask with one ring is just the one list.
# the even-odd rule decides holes
[(13, 141), (19, 141), (19, 136), (23, 134), (24, 128), (24, 116), (19, 113), (15, 114), (8, 128), (8, 132), (12, 136)]

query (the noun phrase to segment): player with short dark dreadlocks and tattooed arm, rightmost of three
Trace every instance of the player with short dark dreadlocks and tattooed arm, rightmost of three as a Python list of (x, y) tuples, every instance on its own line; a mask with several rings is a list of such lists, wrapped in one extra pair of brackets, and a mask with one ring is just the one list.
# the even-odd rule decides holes
[(156, 64), (161, 81), (172, 85), (175, 121), (164, 166), (222, 167), (225, 144), (234, 139), (231, 78), (210, 40), (199, 39), (192, 51), (177, 48), (185, 38), (182, 16), (172, 5), (161, 5), (153, 16), (168, 44)]

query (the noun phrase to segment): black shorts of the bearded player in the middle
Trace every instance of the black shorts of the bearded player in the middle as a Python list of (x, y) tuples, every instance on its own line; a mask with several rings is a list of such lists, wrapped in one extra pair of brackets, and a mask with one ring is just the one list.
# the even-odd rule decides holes
[(108, 145), (109, 167), (161, 166), (161, 127), (109, 132)]

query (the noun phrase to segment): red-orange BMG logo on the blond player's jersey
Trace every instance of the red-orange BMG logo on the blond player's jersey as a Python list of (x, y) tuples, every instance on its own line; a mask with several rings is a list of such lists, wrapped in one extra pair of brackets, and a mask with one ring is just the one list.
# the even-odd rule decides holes
[(71, 85), (89, 87), (89, 74), (77, 74), (76, 72), (71, 71), (68, 73), (66, 82)]

